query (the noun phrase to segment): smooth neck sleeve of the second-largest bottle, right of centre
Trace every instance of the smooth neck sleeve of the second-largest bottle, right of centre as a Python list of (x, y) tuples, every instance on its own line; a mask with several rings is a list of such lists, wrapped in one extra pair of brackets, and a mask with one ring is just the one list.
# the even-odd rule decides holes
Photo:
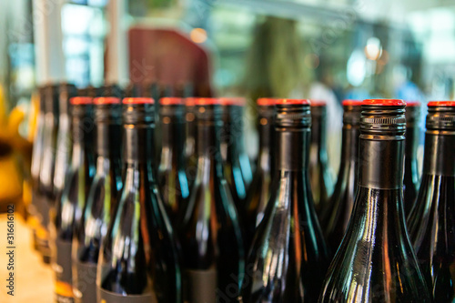
[(310, 129), (277, 129), (278, 171), (301, 171), (308, 169)]

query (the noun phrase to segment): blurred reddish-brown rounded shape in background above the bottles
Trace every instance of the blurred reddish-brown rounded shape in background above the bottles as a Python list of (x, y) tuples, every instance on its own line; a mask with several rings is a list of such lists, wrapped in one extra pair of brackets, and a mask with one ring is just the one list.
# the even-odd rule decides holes
[(129, 77), (132, 83), (168, 86), (171, 95), (192, 86), (193, 96), (212, 96), (210, 58), (188, 35), (175, 29), (129, 29)]

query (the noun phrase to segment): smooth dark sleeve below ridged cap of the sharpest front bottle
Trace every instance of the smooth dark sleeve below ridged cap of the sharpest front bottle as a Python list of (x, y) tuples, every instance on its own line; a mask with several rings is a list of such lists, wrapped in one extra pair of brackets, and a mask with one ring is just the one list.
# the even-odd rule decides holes
[(359, 186), (403, 187), (404, 136), (359, 136)]

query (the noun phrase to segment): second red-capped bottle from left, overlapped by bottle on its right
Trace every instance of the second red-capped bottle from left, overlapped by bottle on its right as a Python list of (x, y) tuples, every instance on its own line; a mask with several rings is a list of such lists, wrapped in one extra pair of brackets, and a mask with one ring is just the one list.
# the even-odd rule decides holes
[(122, 188), (122, 107), (115, 96), (96, 97), (96, 174), (81, 227), (73, 237), (73, 289), (77, 303), (96, 302), (96, 265)]

